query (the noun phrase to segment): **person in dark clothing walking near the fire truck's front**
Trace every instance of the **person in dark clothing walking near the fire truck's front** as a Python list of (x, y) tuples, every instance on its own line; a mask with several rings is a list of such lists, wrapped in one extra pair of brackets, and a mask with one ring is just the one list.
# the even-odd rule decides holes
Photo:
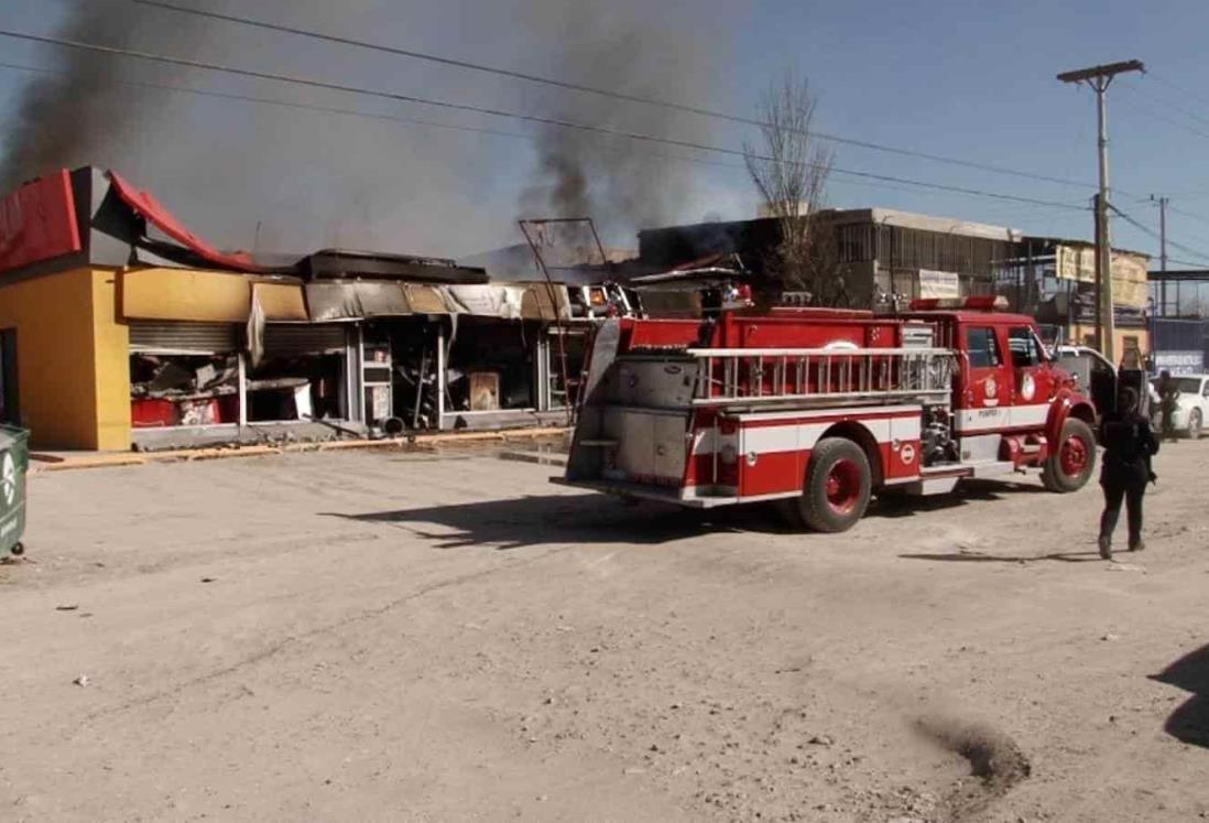
[(1158, 453), (1158, 441), (1150, 420), (1138, 412), (1138, 392), (1122, 389), (1117, 408), (1100, 422), (1104, 465), (1100, 487), (1104, 489), (1104, 513), (1100, 516), (1100, 557), (1112, 559), (1112, 531), (1117, 528), (1121, 503), (1129, 512), (1129, 551), (1145, 548), (1141, 540), (1141, 499), (1146, 484), (1156, 479), (1151, 457)]

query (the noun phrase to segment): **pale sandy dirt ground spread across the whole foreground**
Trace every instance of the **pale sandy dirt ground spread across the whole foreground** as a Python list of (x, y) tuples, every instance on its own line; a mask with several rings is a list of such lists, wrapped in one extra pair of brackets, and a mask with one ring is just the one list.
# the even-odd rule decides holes
[(1035, 480), (804, 536), (484, 451), (39, 476), (0, 818), (1207, 817), (1207, 464), (1113, 564)]

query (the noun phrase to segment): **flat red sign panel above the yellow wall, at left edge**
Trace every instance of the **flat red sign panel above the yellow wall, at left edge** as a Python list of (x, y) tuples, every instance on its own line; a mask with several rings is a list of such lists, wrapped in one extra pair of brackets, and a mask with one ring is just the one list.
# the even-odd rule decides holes
[(71, 177), (60, 169), (0, 200), (0, 271), (79, 252)]

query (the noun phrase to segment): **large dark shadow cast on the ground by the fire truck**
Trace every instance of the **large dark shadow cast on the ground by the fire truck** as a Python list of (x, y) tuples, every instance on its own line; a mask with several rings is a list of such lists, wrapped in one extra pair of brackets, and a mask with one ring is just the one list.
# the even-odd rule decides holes
[[(712, 511), (654, 503), (627, 506), (602, 494), (488, 500), (366, 514), (325, 512), (324, 517), (399, 525), (436, 542), (439, 548), (482, 543), (499, 549), (569, 542), (659, 545), (719, 531), (788, 531), (769, 506)], [(447, 531), (430, 530), (433, 524)]]

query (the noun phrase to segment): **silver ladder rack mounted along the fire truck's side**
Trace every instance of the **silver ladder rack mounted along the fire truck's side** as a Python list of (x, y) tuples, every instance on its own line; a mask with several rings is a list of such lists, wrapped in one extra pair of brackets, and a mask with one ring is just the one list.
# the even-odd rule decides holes
[(693, 405), (832, 402), (945, 403), (953, 392), (950, 349), (690, 349)]

